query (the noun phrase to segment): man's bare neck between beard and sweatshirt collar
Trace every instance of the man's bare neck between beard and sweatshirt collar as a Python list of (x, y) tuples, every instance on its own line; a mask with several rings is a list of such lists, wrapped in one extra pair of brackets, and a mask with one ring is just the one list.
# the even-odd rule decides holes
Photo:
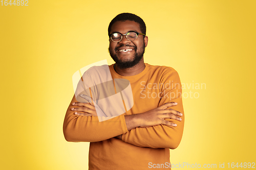
[(123, 68), (123, 69), (120, 69), (118, 67), (118, 65), (114, 65), (115, 67), (115, 71), (121, 75), (121, 76), (134, 76), (134, 75), (138, 75), (140, 74), (140, 72), (142, 72), (144, 69), (145, 69), (145, 63), (144, 63), (144, 60), (143, 58), (140, 60), (140, 62), (138, 64), (136, 64), (135, 66), (133, 67), (130, 67), (130, 68)]

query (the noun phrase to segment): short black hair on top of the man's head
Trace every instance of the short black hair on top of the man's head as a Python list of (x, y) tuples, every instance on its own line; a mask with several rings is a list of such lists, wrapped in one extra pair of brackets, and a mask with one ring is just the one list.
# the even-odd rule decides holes
[(146, 35), (145, 22), (143, 21), (143, 19), (141, 19), (141, 17), (132, 13), (121, 13), (121, 14), (118, 14), (115, 18), (113, 18), (112, 21), (110, 22), (109, 29), (108, 29), (109, 35), (110, 35), (111, 27), (116, 21), (126, 21), (126, 20), (131, 20), (139, 23), (141, 33)]

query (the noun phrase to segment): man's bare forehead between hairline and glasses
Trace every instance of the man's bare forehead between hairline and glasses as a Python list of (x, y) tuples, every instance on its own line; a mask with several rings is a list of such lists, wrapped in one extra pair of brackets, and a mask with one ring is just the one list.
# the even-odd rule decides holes
[(126, 20), (126, 21), (116, 21), (111, 27), (111, 34), (114, 32), (119, 32), (125, 34), (129, 31), (137, 31), (141, 33), (140, 25), (138, 22)]

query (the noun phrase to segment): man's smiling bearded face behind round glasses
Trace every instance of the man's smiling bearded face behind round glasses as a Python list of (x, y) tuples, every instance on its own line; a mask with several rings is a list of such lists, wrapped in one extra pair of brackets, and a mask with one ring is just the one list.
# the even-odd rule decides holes
[[(141, 33), (139, 23), (130, 20), (117, 21), (112, 25), (110, 33), (118, 32), (125, 34), (129, 31)], [(138, 38), (134, 41), (127, 40), (127, 38), (123, 36), (122, 40), (119, 42), (114, 42), (110, 39), (109, 52), (120, 69), (130, 68), (138, 64), (143, 58), (146, 46), (147, 36), (143, 38), (143, 35), (138, 35)], [(124, 49), (126, 50), (123, 51)]]

